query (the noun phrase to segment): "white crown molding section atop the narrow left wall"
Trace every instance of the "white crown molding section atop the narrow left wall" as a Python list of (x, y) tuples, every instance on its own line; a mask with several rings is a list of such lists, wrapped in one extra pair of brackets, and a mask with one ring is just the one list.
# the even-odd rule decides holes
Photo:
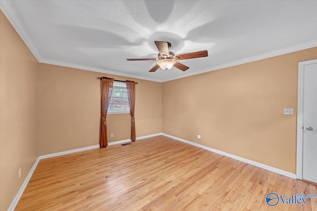
[(16, 14), (14, 8), (12, 7), (11, 3), (8, 0), (0, 0), (0, 9), (6, 16), (6, 18), (10, 21), (15, 31), (18, 33), (20, 38), (23, 42), (28, 46), (31, 50), (35, 58), (40, 61), (41, 56), (36, 49), (35, 45), (33, 44), (30, 36), (28, 35), (22, 21), (20, 20), (19, 16)]

